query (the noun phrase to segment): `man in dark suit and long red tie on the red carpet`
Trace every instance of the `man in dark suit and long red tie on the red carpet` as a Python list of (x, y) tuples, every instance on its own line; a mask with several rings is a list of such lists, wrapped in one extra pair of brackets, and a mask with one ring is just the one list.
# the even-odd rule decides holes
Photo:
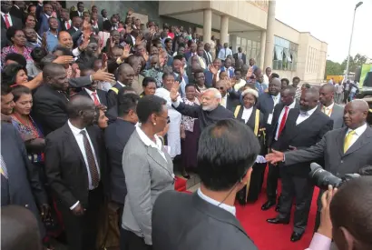
[[(267, 133), (267, 145), (269, 148), (277, 149), (279, 136), (283, 132), (284, 126), (286, 125), (289, 110), (292, 108), (299, 108), (299, 102), (295, 99), (296, 89), (292, 86), (285, 87), (280, 93), (280, 103), (274, 107), (274, 113), (272, 115), (272, 126)], [(268, 210), (271, 206), (276, 204), (277, 201), (277, 187), (279, 178), (279, 167), (275, 165), (269, 165), (269, 173), (267, 179), (266, 194), (268, 195), (268, 201), (262, 205), (262, 210)], [(279, 212), (279, 202), (275, 208), (275, 211)]]

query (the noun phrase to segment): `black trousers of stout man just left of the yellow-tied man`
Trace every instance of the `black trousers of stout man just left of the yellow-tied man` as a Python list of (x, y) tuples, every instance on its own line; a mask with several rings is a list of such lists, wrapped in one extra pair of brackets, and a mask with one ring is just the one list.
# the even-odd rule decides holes
[(282, 190), (278, 217), (289, 220), (292, 201), (295, 198), (296, 209), (293, 231), (303, 234), (306, 225), (308, 225), (308, 212), (310, 211), (314, 186), (307, 177), (292, 175), (285, 169), (281, 169), (280, 176)]

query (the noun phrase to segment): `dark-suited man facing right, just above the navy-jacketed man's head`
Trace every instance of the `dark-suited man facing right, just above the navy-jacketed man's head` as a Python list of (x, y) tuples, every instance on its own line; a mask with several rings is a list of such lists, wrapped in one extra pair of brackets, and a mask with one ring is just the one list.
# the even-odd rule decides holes
[(122, 64), (118, 67), (116, 84), (107, 93), (108, 108), (112, 108), (117, 104), (117, 95), (122, 87), (132, 86), (134, 75), (131, 65)]

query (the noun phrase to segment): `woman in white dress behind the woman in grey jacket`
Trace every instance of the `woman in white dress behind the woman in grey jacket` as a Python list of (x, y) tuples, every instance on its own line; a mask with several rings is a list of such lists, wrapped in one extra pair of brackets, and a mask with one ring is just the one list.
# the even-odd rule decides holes
[[(162, 75), (163, 87), (158, 88), (155, 91), (155, 95), (158, 95), (167, 101), (168, 115), (171, 120), (167, 133), (167, 145), (171, 158), (174, 158), (176, 155), (181, 155), (181, 114), (171, 106), (170, 91), (173, 84), (174, 75), (164, 73)], [(181, 96), (178, 98), (181, 100)]]

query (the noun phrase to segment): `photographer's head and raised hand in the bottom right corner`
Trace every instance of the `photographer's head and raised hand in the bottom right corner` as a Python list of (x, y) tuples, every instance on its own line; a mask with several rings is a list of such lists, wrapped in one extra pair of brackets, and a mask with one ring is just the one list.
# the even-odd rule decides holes
[(372, 249), (372, 177), (348, 181), (321, 197), (320, 225), (307, 250), (328, 250), (333, 238), (338, 250)]

